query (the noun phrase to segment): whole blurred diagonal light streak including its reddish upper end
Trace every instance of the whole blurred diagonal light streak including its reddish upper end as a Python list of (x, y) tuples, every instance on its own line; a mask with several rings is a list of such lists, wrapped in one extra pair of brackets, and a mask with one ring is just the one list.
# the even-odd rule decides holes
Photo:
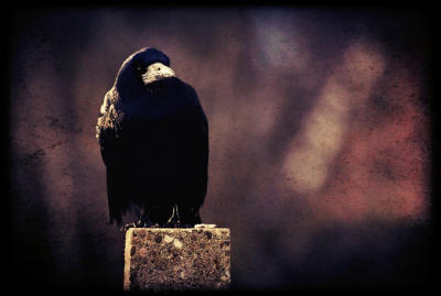
[(335, 68), (292, 141), (284, 171), (288, 178), (294, 179), (295, 191), (306, 194), (321, 189), (345, 141), (349, 112), (366, 103), (383, 68), (380, 54), (363, 42), (347, 50), (343, 65)]

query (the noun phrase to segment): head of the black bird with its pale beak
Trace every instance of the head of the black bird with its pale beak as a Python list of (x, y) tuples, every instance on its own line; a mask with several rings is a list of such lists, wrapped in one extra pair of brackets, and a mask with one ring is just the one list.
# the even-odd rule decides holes
[(155, 81), (175, 76), (170, 68), (170, 58), (164, 53), (153, 47), (142, 48), (125, 61), (115, 86), (120, 95), (126, 91), (143, 91)]

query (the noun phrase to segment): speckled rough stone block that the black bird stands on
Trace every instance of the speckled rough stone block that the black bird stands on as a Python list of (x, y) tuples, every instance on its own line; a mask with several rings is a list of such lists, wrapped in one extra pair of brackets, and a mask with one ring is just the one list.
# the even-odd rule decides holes
[(129, 229), (125, 290), (227, 290), (228, 228)]

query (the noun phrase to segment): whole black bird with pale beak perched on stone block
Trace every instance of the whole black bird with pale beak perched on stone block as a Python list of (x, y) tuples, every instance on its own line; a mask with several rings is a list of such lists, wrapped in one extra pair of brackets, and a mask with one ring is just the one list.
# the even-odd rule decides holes
[(107, 173), (110, 222), (133, 202), (122, 227), (193, 227), (207, 190), (208, 122), (196, 91), (170, 59), (142, 48), (122, 64), (100, 108), (96, 136)]

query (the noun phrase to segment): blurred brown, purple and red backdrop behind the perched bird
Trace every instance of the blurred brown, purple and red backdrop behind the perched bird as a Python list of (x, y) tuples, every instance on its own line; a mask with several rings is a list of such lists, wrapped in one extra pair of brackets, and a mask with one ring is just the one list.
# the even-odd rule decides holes
[(122, 289), (125, 235), (109, 224), (95, 125), (122, 62), (157, 47), (208, 118), (201, 216), (232, 231), (233, 288), (427, 286), (434, 218), (428, 15), (14, 10), (11, 276), (30, 288)]

